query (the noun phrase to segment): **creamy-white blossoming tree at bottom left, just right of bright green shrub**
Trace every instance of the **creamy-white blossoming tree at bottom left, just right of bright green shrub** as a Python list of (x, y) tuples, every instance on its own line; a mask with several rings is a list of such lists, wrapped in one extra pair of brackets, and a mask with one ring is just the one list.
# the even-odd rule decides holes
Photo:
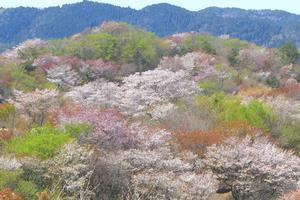
[(92, 148), (69, 143), (54, 158), (42, 163), (47, 169), (47, 174), (60, 181), (63, 188), (61, 196), (77, 199), (95, 197), (95, 188), (90, 188), (89, 185), (93, 174), (93, 168), (90, 166), (92, 154)]

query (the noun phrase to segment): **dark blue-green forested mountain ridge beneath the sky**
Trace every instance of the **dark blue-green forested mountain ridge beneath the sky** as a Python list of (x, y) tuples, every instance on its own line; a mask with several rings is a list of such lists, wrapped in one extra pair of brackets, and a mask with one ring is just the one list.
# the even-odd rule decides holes
[(165, 3), (135, 10), (92, 1), (45, 9), (2, 9), (0, 43), (63, 38), (108, 20), (127, 22), (159, 36), (197, 31), (269, 47), (287, 41), (300, 46), (300, 16), (284, 11), (211, 7), (195, 12)]

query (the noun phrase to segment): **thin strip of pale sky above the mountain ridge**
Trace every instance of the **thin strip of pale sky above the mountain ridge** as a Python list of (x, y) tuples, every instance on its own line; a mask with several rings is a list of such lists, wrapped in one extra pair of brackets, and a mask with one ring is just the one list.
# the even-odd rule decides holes
[[(82, 0), (0, 0), (0, 7), (49, 7)], [(93, 0), (122, 7), (141, 9), (156, 3), (170, 3), (188, 10), (200, 10), (206, 7), (237, 7), (244, 9), (278, 9), (300, 14), (300, 0)]]

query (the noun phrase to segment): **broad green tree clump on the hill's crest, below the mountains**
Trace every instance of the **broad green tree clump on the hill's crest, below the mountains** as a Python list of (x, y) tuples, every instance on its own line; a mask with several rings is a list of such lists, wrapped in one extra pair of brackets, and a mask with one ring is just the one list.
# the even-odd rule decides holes
[(88, 33), (76, 39), (50, 41), (50, 51), (55, 55), (134, 63), (139, 67), (138, 71), (154, 68), (166, 54), (167, 48), (165, 42), (153, 33), (135, 28), (128, 28), (122, 32)]

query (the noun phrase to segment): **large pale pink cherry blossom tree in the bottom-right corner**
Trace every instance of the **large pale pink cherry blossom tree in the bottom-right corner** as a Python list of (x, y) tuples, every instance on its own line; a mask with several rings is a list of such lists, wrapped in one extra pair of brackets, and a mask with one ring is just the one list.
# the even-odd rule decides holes
[(205, 163), (236, 199), (275, 199), (300, 180), (300, 159), (265, 138), (230, 138), (212, 145)]

